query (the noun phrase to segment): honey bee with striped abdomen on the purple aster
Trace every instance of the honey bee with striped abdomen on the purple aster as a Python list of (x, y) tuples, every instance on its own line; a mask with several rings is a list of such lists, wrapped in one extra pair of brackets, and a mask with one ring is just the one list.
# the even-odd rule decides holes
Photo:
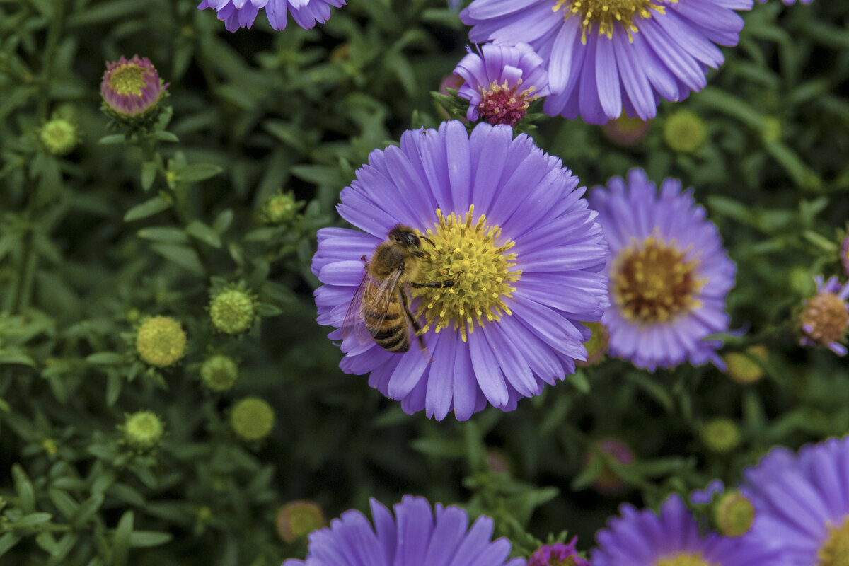
[(407, 287), (451, 287), (456, 280), (416, 281), (422, 262), (429, 258), (422, 249), (422, 240), (433, 245), (413, 228), (396, 224), (386, 241), (374, 249), (371, 261), (363, 255), (366, 272), (345, 313), (342, 339), (353, 333), (360, 344), (374, 340), (385, 350), (406, 352), (410, 349), (409, 327), (412, 326), (419, 347), (427, 351), (421, 325), (410, 312)]

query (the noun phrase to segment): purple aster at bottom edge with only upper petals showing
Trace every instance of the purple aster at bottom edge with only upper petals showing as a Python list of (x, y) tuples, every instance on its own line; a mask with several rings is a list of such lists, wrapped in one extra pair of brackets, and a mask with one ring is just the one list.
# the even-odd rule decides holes
[(510, 541), (492, 541), (492, 518), (481, 516), (469, 529), (463, 509), (435, 507), (404, 496), (392, 518), (372, 499), (374, 527), (363, 513), (346, 511), (310, 535), (305, 560), (283, 566), (525, 566), (524, 558), (508, 559)]

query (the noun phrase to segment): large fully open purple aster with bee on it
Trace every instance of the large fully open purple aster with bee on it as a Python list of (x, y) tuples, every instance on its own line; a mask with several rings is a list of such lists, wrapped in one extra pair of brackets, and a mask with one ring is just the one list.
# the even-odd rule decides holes
[(427, 234), (417, 281), (456, 283), (408, 289), (429, 354), (391, 352), (354, 333), (341, 343), (342, 370), (370, 372), (368, 383), (405, 412), (438, 420), (450, 411), (466, 420), (487, 403), (512, 411), (574, 373), (590, 337), (579, 321), (598, 321), (607, 305), (604, 235), (577, 182), (509, 126), (479, 124), (469, 136), (453, 120), (372, 152), (336, 208), (364, 233), (318, 232), (318, 322), (343, 326), (363, 256), (398, 224)]

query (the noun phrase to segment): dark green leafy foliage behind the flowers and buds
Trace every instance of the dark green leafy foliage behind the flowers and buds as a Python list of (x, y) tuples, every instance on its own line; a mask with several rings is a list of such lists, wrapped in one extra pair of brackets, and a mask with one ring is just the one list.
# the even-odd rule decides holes
[[(662, 103), (636, 145), (559, 118), (531, 135), (590, 187), (643, 166), (695, 188), (738, 265), (728, 306), (745, 333), (723, 353), (767, 345), (767, 377), (739, 385), (715, 367), (649, 374), (610, 360), (515, 412), (436, 423), (340, 373), (308, 267), (368, 153), (441, 120), (430, 91), (467, 41), (455, 13), (438, 0), (350, 0), (312, 31), (274, 32), (260, 15), (230, 34), (188, 0), (0, 3), (0, 563), (277, 564), (306, 552), (277, 535), (284, 502), (311, 499), (332, 518), (405, 493), (492, 515), (517, 553), (561, 530), (586, 550), (621, 502), (733, 484), (769, 446), (846, 434), (846, 361), (798, 347), (791, 316), (813, 275), (842, 273), (849, 5), (771, 0), (743, 15), (710, 86)], [(110, 134), (104, 60), (133, 53), (171, 83), (172, 136), (153, 153), (98, 143)], [(692, 154), (663, 137), (679, 109), (706, 126)], [(61, 158), (38, 143), (56, 112), (82, 140)], [(268, 226), (259, 210), (278, 189), (301, 214)], [(139, 207), (157, 195), (172, 205)], [(210, 289), (239, 280), (259, 296), (261, 322), (216, 334)], [(142, 371), (127, 341), (155, 314), (189, 340), (161, 373)], [(239, 360), (223, 395), (200, 386), (211, 352)], [(276, 413), (256, 444), (228, 426), (245, 395)], [(141, 410), (166, 423), (152, 454), (129, 451), (117, 428)], [(730, 453), (701, 439), (715, 417), (739, 426)], [(616, 468), (629, 489), (615, 497), (588, 487), (601, 468), (585, 466), (611, 435), (638, 457)], [(492, 472), (487, 454), (509, 473)]]

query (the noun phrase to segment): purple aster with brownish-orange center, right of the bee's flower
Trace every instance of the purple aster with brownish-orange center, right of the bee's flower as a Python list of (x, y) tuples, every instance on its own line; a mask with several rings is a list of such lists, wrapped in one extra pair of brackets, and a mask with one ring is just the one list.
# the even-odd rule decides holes
[(589, 199), (610, 244), (610, 307), (602, 317), (610, 354), (649, 371), (688, 360), (724, 367), (715, 351), (722, 341), (705, 337), (728, 329), (735, 267), (692, 189), (682, 192), (669, 178), (658, 192), (633, 169)]

